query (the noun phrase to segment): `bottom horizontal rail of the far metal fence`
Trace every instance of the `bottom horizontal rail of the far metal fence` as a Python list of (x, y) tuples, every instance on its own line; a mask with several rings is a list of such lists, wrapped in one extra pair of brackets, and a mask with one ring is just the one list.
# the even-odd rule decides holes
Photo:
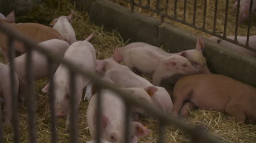
[[(126, 0), (123, 0), (123, 1), (129, 2), (129, 1), (126, 1)], [(207, 33), (207, 34), (216, 36), (216, 37), (218, 37), (218, 38), (220, 38), (220, 39), (229, 41), (229, 42), (234, 43), (234, 44), (236, 44), (236, 45), (238, 45), (238, 46), (241, 46), (241, 47), (244, 47), (244, 48), (246, 48), (246, 49), (249, 49), (249, 50), (251, 50), (251, 51), (253, 51), (253, 52), (256, 52), (256, 49), (254, 49), (254, 48), (252, 48), (252, 47), (249, 47), (249, 46), (247, 46), (247, 45), (245, 45), (245, 44), (243, 44), (243, 43), (239, 43), (239, 42), (237, 42), (237, 41), (235, 41), (235, 40), (231, 40), (231, 39), (228, 39), (228, 38), (224, 38), (222, 35), (216, 34), (216, 33), (214, 33), (214, 32), (211, 32), (211, 31), (209, 31), (209, 30), (206, 30), (206, 29), (202, 29), (201, 27), (194, 26), (193, 24), (188, 23), (187, 21), (179, 20), (178, 18), (173, 18), (173, 16), (168, 15), (168, 14), (166, 14), (166, 13), (159, 13), (158, 10), (155, 10), (155, 9), (152, 9), (152, 8), (147, 8), (147, 7), (144, 7), (143, 5), (139, 5), (139, 4), (135, 4), (135, 5), (138, 6), (138, 7), (147, 9), (147, 10), (149, 10), (149, 11), (152, 11), (153, 13), (158, 13), (158, 14), (160, 14), (162, 17), (170, 18), (171, 20), (180, 22), (180, 23), (185, 24), (185, 25), (187, 25), (187, 26), (189, 26), (189, 27), (193, 27), (193, 28), (195, 28), (195, 29), (197, 29), (197, 30), (200, 30), (200, 31), (202, 31), (202, 32), (205, 32), (205, 33)]]

